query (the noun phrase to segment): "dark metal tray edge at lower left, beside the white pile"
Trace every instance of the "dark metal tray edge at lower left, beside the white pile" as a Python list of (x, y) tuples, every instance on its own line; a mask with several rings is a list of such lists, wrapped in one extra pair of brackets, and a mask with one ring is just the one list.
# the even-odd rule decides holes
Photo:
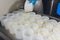
[(4, 40), (15, 40), (15, 38), (0, 24), (0, 37)]

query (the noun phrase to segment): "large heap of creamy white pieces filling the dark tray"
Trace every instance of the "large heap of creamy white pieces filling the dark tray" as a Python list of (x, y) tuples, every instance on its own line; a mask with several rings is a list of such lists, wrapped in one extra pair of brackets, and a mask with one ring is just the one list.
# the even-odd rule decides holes
[(1, 22), (16, 39), (60, 40), (60, 22), (34, 12), (15, 11), (2, 17)]

